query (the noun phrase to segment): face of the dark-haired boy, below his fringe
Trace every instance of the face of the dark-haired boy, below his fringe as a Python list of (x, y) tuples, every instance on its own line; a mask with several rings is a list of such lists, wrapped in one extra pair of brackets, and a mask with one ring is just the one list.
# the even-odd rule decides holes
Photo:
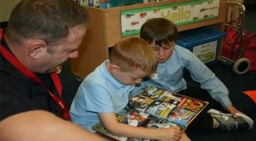
[(172, 41), (168, 45), (158, 46), (155, 42), (150, 44), (153, 47), (158, 63), (165, 63), (172, 56), (175, 42)]

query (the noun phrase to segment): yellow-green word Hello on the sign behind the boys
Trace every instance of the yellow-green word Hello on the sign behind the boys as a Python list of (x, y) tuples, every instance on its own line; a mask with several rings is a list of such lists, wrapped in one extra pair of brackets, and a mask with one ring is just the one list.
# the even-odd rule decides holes
[(161, 12), (161, 18), (166, 18), (172, 22), (188, 20), (191, 18), (191, 12), (189, 10), (184, 11), (184, 8), (178, 8), (178, 12), (171, 13), (168, 10), (167, 15), (164, 15), (164, 12)]

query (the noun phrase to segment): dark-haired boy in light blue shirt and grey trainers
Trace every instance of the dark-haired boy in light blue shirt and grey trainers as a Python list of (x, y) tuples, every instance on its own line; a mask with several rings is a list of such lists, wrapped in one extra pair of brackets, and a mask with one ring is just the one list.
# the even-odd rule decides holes
[[(208, 101), (209, 106), (192, 121), (189, 128), (203, 131), (221, 129), (250, 129), (253, 121), (239, 112), (228, 97), (228, 89), (215, 74), (188, 49), (175, 45), (178, 30), (174, 23), (164, 18), (153, 18), (140, 29), (140, 38), (152, 46), (158, 60), (158, 69), (140, 88), (153, 85), (186, 96)], [(184, 68), (201, 88), (188, 87), (183, 78)], [(134, 90), (133, 93), (137, 91)], [(221, 106), (220, 106), (221, 104)], [(224, 114), (214, 108), (224, 107), (231, 114)]]

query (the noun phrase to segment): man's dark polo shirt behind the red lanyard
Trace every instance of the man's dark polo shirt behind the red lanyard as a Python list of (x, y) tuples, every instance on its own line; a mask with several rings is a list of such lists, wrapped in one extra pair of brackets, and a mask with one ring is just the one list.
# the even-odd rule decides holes
[[(4, 39), (2, 39), (1, 45), (10, 51)], [(31, 110), (46, 110), (62, 118), (62, 112), (43, 86), (18, 71), (2, 54), (0, 58), (0, 121), (14, 114)], [(60, 97), (50, 74), (36, 74), (36, 76), (38, 76), (53, 94)], [(61, 77), (60, 80), (62, 81)], [(62, 89), (62, 97), (65, 97), (67, 94), (63, 83)]]

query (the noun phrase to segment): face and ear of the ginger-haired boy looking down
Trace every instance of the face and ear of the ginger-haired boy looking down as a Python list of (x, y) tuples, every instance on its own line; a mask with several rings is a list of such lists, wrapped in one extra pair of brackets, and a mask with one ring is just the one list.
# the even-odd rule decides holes
[(124, 85), (140, 84), (142, 79), (148, 75), (140, 68), (133, 68), (129, 72), (123, 72), (117, 65), (110, 65), (109, 71), (118, 82)]

